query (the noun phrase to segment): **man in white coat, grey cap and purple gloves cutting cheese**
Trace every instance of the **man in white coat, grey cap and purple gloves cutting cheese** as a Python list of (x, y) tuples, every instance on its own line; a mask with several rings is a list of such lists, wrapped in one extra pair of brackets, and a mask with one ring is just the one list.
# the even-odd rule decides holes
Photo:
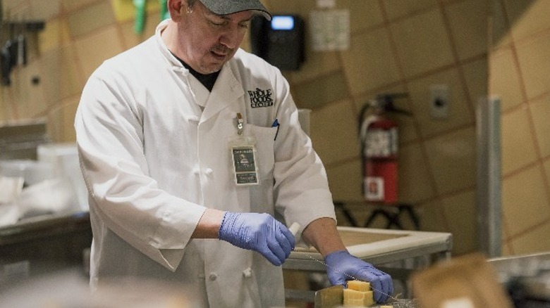
[(252, 15), (267, 10), (258, 0), (169, 0), (168, 9), (153, 37), (106, 60), (82, 92), (75, 129), (92, 288), (154, 278), (180, 283), (197, 307), (283, 306), (280, 265), (295, 238), (278, 212), (302, 226), (331, 283), (371, 281), (384, 302), (391, 277), (339, 238), (286, 79), (238, 48)]

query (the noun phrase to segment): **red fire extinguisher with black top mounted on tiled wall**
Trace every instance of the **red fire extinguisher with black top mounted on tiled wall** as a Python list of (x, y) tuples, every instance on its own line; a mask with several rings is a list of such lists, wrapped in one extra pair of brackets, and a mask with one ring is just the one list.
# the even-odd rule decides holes
[[(363, 106), (359, 117), (363, 195), (374, 203), (397, 203), (398, 125), (387, 113), (411, 115), (393, 106), (395, 98), (407, 94), (380, 94)], [(374, 112), (365, 118), (370, 108)]]

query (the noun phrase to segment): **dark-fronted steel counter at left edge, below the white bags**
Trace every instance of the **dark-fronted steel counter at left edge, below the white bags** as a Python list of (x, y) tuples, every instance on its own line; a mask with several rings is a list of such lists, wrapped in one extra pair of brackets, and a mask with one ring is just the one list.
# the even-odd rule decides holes
[(0, 288), (11, 281), (69, 268), (83, 269), (92, 243), (88, 212), (24, 219), (0, 228)]

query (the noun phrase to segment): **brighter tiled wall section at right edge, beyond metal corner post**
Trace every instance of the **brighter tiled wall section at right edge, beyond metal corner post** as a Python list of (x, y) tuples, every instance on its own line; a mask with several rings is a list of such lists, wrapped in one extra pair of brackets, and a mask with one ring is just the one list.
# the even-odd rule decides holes
[(503, 252), (550, 250), (550, 2), (494, 0), (489, 93), (501, 96)]

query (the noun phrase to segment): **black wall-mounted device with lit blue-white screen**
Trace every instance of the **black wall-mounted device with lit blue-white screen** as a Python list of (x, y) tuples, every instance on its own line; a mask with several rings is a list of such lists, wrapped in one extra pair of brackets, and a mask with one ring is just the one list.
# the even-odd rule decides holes
[(273, 15), (252, 18), (250, 43), (252, 53), (280, 70), (298, 70), (305, 60), (304, 21), (297, 15)]

